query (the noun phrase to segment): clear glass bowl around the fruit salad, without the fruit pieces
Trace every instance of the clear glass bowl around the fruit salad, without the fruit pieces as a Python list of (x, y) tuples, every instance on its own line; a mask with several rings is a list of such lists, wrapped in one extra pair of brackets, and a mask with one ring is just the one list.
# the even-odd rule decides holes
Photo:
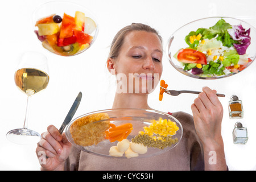
[[(82, 44), (82, 46), (81, 45), (77, 46), (78, 45), (77, 43), (76, 46), (73, 46), (73, 50), (76, 50), (76, 51), (78, 50), (77, 52), (76, 51), (68, 52), (67, 49), (64, 51), (64, 48), (48, 43), (44, 36), (38, 36), (37, 34), (35, 34), (35, 32), (38, 31), (38, 27), (35, 26), (35, 24), (36, 24), (36, 21), (38, 21), (39, 19), (46, 18), (53, 14), (59, 15), (61, 16), (61, 18), (63, 18), (64, 13), (75, 18), (76, 11), (80, 11), (81, 13), (84, 13), (86, 17), (89, 17), (88, 22), (90, 23), (88, 24), (95, 23), (94, 26), (96, 26), (96, 29), (93, 32), (90, 32), (90, 33), (88, 32), (88, 35), (93, 37), (89, 45)], [(94, 23), (90, 21), (90, 19), (92, 19)], [(59, 26), (61, 23), (59, 23)], [(32, 13), (32, 27), (34, 30), (33, 34), (35, 38), (39, 40), (39, 43), (42, 44), (43, 48), (46, 48), (49, 52), (55, 53), (56, 55), (60, 55), (60, 56), (75, 56), (84, 52), (86, 49), (92, 46), (92, 44), (95, 42), (98, 35), (98, 22), (97, 22), (96, 16), (92, 13), (92, 11), (86, 9), (85, 7), (79, 4), (67, 2), (67, 1), (52, 1), (52, 2), (47, 2), (47, 3), (44, 3), (43, 5), (38, 6)]]

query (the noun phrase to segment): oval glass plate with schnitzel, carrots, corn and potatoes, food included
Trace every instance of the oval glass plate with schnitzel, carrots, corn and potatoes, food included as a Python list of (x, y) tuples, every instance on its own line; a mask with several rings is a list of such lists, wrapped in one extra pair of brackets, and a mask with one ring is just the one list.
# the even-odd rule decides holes
[(177, 146), (183, 127), (161, 111), (109, 109), (73, 119), (65, 133), (69, 142), (82, 151), (107, 158), (138, 159)]

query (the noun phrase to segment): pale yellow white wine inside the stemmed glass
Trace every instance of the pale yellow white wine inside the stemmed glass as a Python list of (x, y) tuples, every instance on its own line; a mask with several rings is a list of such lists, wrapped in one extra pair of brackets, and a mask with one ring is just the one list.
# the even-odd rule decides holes
[(47, 73), (34, 68), (22, 68), (15, 72), (15, 84), (23, 91), (37, 93), (47, 87), (49, 76)]

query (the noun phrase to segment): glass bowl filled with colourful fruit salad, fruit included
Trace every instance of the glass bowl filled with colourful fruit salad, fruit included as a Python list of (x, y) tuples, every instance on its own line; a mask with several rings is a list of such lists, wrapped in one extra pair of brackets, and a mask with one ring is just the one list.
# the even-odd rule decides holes
[(53, 1), (32, 14), (35, 37), (44, 48), (60, 56), (74, 56), (92, 46), (98, 34), (95, 15), (72, 2)]

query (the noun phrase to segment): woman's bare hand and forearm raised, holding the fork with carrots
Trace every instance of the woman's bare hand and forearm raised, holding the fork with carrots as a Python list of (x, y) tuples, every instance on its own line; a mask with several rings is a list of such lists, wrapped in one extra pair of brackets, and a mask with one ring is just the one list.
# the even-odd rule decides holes
[(204, 148), (205, 170), (226, 170), (224, 143), (221, 137), (223, 107), (216, 90), (204, 87), (191, 109), (196, 133)]

